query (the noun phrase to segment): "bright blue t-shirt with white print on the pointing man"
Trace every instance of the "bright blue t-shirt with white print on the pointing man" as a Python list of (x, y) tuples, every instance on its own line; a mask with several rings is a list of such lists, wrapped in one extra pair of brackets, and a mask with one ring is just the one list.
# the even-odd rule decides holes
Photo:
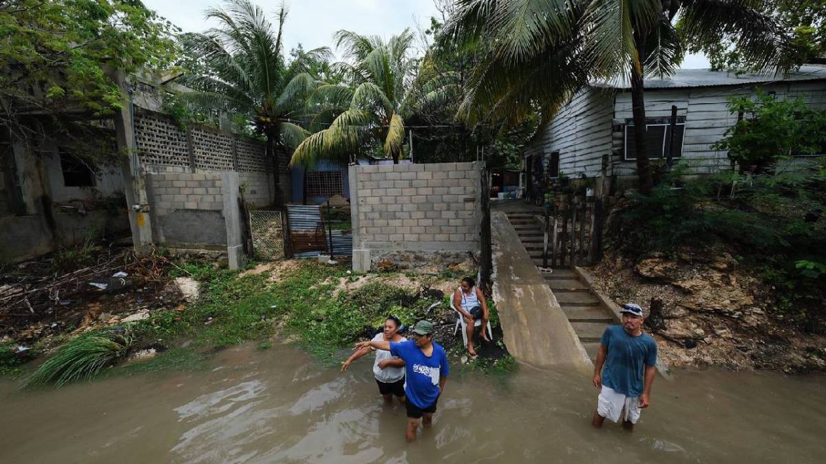
[(444, 348), (433, 343), (433, 353), (425, 353), (413, 340), (391, 342), (390, 353), (405, 361), (405, 395), (413, 405), (425, 409), (439, 398), (439, 377), (448, 376), (450, 366)]

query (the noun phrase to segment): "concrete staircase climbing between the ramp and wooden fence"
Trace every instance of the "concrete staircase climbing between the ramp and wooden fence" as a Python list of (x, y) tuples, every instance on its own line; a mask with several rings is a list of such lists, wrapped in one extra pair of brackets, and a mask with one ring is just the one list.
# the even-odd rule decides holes
[(557, 297), (588, 356), (591, 360), (596, 359), (602, 332), (614, 323), (610, 310), (605, 308), (596, 296), (591, 295), (588, 286), (577, 272), (570, 268), (541, 268), (544, 230), (534, 216), (536, 213), (510, 211), (506, 214), (531, 260), (540, 268), (545, 282)]

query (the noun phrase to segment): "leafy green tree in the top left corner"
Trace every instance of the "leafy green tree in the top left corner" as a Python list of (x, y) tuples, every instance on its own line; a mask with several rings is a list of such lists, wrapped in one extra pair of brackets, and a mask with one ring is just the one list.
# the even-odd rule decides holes
[[(168, 67), (175, 28), (135, 0), (0, 2), (0, 127), (39, 144), (59, 132), (76, 144), (101, 135), (96, 118), (121, 108), (112, 71)], [(78, 150), (83, 151), (83, 150)], [(111, 150), (86, 150), (111, 157)]]

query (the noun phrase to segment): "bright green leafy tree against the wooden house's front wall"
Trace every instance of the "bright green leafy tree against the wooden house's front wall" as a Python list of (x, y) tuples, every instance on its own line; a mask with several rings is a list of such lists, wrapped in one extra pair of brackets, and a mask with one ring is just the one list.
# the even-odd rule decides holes
[(826, 149), (826, 111), (809, 109), (800, 97), (778, 100), (758, 92), (755, 98), (731, 98), (729, 109), (743, 118), (712, 148), (728, 150), (741, 169), (762, 172), (779, 158)]

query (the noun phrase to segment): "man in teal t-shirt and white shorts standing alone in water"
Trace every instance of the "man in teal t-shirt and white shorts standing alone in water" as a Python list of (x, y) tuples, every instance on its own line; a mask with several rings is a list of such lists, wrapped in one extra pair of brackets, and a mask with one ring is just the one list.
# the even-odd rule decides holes
[[(622, 307), (622, 325), (605, 329), (596, 354), (594, 386), (601, 389), (592, 424), (602, 427), (607, 417), (633, 430), (640, 411), (648, 407), (657, 365), (657, 342), (643, 334), (643, 309)], [(607, 362), (606, 362), (607, 360)], [(605, 364), (605, 369), (603, 369)]]

